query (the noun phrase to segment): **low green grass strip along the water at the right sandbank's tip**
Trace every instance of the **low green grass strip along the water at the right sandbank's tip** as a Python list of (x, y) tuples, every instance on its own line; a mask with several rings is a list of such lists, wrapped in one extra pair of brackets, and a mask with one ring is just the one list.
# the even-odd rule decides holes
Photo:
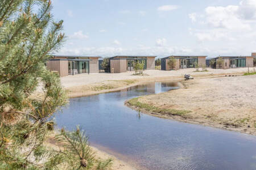
[(139, 109), (145, 109), (146, 111), (160, 113), (160, 114), (168, 114), (168, 115), (179, 115), (183, 116), (191, 111), (188, 110), (176, 110), (176, 109), (162, 109), (156, 106), (148, 105), (147, 103), (141, 103), (138, 101), (139, 97), (130, 99), (127, 103), (131, 106), (138, 107)]

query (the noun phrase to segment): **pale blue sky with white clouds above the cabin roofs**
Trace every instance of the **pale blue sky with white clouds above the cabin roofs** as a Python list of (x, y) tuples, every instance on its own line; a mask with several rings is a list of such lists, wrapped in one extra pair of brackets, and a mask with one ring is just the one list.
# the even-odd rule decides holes
[(256, 0), (53, 0), (59, 55), (251, 55)]

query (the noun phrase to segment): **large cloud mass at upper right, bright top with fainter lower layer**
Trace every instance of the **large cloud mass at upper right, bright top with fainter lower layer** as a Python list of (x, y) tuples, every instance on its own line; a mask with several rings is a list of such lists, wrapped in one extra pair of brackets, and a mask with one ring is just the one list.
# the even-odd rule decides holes
[[(189, 30), (200, 42), (222, 41), (249, 43), (255, 39), (256, 0), (243, 0), (238, 5), (209, 6), (204, 13), (189, 14), (198, 29)], [(251, 49), (253, 50), (253, 49)]]

